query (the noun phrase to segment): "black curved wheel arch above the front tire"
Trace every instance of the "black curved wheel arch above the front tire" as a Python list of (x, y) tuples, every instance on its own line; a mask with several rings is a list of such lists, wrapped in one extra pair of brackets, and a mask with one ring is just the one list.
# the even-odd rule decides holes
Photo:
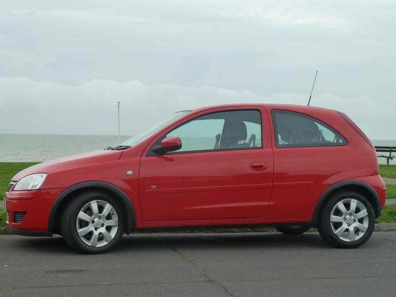
[(123, 208), (126, 210), (126, 222), (125, 222), (125, 233), (129, 234), (132, 230), (136, 228), (136, 212), (135, 207), (123, 190), (119, 187), (103, 182), (103, 181), (88, 181), (75, 184), (66, 190), (64, 190), (53, 202), (51, 211), (49, 213), (48, 219), (48, 231), (49, 233), (57, 234), (60, 232), (60, 217), (66, 204), (75, 197), (83, 192), (88, 191), (100, 191), (102, 193), (112, 195), (116, 197), (118, 201), (122, 204)]

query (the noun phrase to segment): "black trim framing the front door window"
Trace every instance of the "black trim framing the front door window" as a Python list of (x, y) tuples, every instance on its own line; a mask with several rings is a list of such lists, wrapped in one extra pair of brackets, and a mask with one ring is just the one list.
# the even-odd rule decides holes
[[(197, 118), (201, 117), (201, 116), (205, 116), (207, 114), (212, 114), (212, 113), (218, 113), (218, 112), (227, 112), (227, 111), (246, 111), (246, 110), (254, 110), (254, 111), (258, 111), (259, 115), (260, 115), (260, 130), (261, 130), (261, 146), (260, 147), (255, 147), (255, 148), (222, 148), (222, 149), (199, 149), (199, 150), (186, 150), (186, 151), (170, 151), (170, 152), (166, 152), (164, 154), (156, 154), (155, 152), (152, 151), (152, 148), (155, 146), (155, 143), (158, 141), (158, 139), (160, 139), (164, 134), (168, 134), (170, 132), (172, 132), (173, 130), (176, 130), (177, 128), (186, 125), (189, 122), (192, 122), (194, 120), (196, 120)], [(150, 149), (148, 150), (146, 156), (150, 157), (150, 156), (168, 156), (168, 155), (175, 155), (175, 154), (185, 154), (185, 153), (197, 153), (197, 152), (212, 152), (212, 151), (233, 151), (233, 150), (248, 150), (248, 149), (262, 149), (264, 148), (264, 138), (263, 138), (263, 117), (261, 114), (261, 110), (257, 109), (257, 108), (239, 108), (239, 109), (226, 109), (226, 110), (217, 110), (217, 111), (213, 111), (213, 112), (208, 112), (202, 115), (199, 115), (191, 120), (188, 120), (182, 124), (180, 124), (179, 126), (175, 127), (174, 129), (164, 132), (161, 134), (161, 136), (157, 139), (157, 141), (154, 142), (154, 144), (150, 147)], [(183, 145), (183, 143), (182, 143)]]

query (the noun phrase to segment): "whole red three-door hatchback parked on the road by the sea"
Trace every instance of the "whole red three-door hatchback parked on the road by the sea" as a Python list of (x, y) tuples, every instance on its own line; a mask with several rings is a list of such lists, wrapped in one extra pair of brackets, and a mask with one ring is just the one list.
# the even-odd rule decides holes
[(124, 233), (179, 227), (317, 227), (335, 247), (371, 236), (385, 204), (375, 150), (342, 112), (234, 104), (180, 111), (102, 151), (16, 174), (8, 224), (86, 253)]

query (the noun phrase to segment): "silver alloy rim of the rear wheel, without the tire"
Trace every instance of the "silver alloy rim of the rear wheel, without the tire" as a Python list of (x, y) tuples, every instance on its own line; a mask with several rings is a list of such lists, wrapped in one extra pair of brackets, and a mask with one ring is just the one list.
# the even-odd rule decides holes
[(366, 207), (359, 200), (347, 198), (339, 201), (331, 211), (330, 225), (341, 240), (353, 242), (367, 231), (369, 217)]

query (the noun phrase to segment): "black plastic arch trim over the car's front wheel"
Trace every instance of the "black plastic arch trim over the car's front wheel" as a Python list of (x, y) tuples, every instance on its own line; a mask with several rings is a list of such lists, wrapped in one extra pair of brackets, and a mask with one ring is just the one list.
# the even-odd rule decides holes
[(56, 222), (56, 212), (57, 209), (60, 205), (60, 203), (65, 199), (69, 194), (81, 190), (84, 188), (98, 188), (98, 189), (105, 189), (108, 191), (112, 191), (117, 194), (119, 198), (121, 198), (124, 206), (126, 207), (126, 215), (127, 215), (127, 230), (125, 230), (125, 233), (129, 234), (132, 230), (136, 228), (136, 212), (135, 212), (135, 207), (131, 201), (131, 199), (128, 197), (128, 195), (121, 190), (119, 187), (103, 182), (103, 181), (88, 181), (88, 182), (81, 182), (78, 184), (75, 184), (66, 190), (64, 190), (53, 202), (51, 211), (49, 213), (49, 219), (48, 219), (48, 232), (52, 233), (54, 231), (54, 225)]

